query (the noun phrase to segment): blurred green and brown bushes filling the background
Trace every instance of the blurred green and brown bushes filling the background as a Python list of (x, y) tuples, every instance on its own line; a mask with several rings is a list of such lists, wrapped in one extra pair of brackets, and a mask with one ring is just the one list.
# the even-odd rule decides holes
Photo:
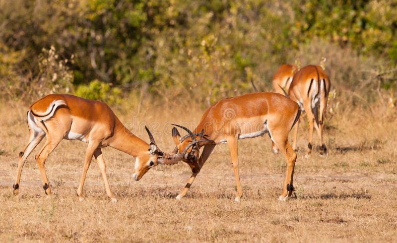
[(349, 104), (395, 103), (396, 16), (396, 0), (0, 0), (0, 94), (209, 105), (324, 57)]

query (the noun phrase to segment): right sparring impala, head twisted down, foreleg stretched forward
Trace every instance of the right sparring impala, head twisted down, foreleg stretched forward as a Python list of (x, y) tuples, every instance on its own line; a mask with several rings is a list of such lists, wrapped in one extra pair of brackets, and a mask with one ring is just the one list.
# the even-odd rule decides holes
[[(240, 201), (242, 189), (238, 171), (237, 140), (268, 134), (287, 158), (288, 167), (280, 200), (286, 200), (293, 191), (292, 179), (296, 153), (288, 142), (288, 133), (299, 119), (299, 106), (292, 100), (276, 93), (257, 92), (221, 100), (204, 113), (199, 125), (189, 134), (181, 137), (178, 130), (172, 129), (177, 147), (174, 153), (182, 151), (180, 160), (188, 163), (192, 177), (177, 196), (186, 195), (200, 169), (208, 159), (216, 144), (227, 143), (237, 182), (236, 201)], [(200, 147), (204, 147), (199, 157)]]

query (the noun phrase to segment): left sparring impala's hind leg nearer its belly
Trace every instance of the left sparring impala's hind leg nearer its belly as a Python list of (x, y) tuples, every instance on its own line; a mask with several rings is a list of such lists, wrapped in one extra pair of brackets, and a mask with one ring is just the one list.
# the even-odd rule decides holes
[(51, 198), (51, 187), (50, 182), (48, 182), (47, 171), (45, 167), (45, 163), (48, 155), (58, 146), (58, 144), (62, 141), (62, 137), (47, 137), (46, 144), (44, 144), (41, 151), (36, 155), (36, 163), (39, 167), (41, 180), (43, 182), (43, 189), (47, 195), (47, 198)]

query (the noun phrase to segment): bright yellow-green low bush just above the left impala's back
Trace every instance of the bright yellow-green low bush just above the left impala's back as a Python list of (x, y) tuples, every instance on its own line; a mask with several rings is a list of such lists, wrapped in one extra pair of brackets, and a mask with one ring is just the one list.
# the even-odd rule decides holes
[(101, 82), (97, 79), (92, 80), (88, 85), (79, 85), (75, 94), (77, 96), (100, 100), (109, 104), (118, 104), (121, 102), (121, 89), (112, 88), (109, 83)]

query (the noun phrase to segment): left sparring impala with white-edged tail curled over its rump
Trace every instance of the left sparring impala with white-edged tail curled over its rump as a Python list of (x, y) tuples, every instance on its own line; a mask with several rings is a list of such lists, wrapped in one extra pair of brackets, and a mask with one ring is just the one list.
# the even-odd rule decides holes
[(65, 94), (48, 95), (30, 105), (27, 123), (30, 138), (23, 152), (19, 153), (18, 172), (13, 185), (15, 195), (18, 194), (23, 165), (44, 136), (47, 137), (46, 143), (35, 158), (47, 197), (51, 197), (51, 187), (45, 162), (62, 139), (78, 139), (88, 143), (83, 173), (76, 191), (80, 200), (83, 200), (83, 185), (92, 156), (94, 156), (101, 170), (106, 193), (113, 202), (117, 202), (110, 190), (101, 148), (110, 146), (136, 157), (134, 178), (141, 177), (154, 165), (177, 163), (175, 161), (177, 155), (161, 152), (147, 128), (150, 144), (132, 134), (103, 102)]

